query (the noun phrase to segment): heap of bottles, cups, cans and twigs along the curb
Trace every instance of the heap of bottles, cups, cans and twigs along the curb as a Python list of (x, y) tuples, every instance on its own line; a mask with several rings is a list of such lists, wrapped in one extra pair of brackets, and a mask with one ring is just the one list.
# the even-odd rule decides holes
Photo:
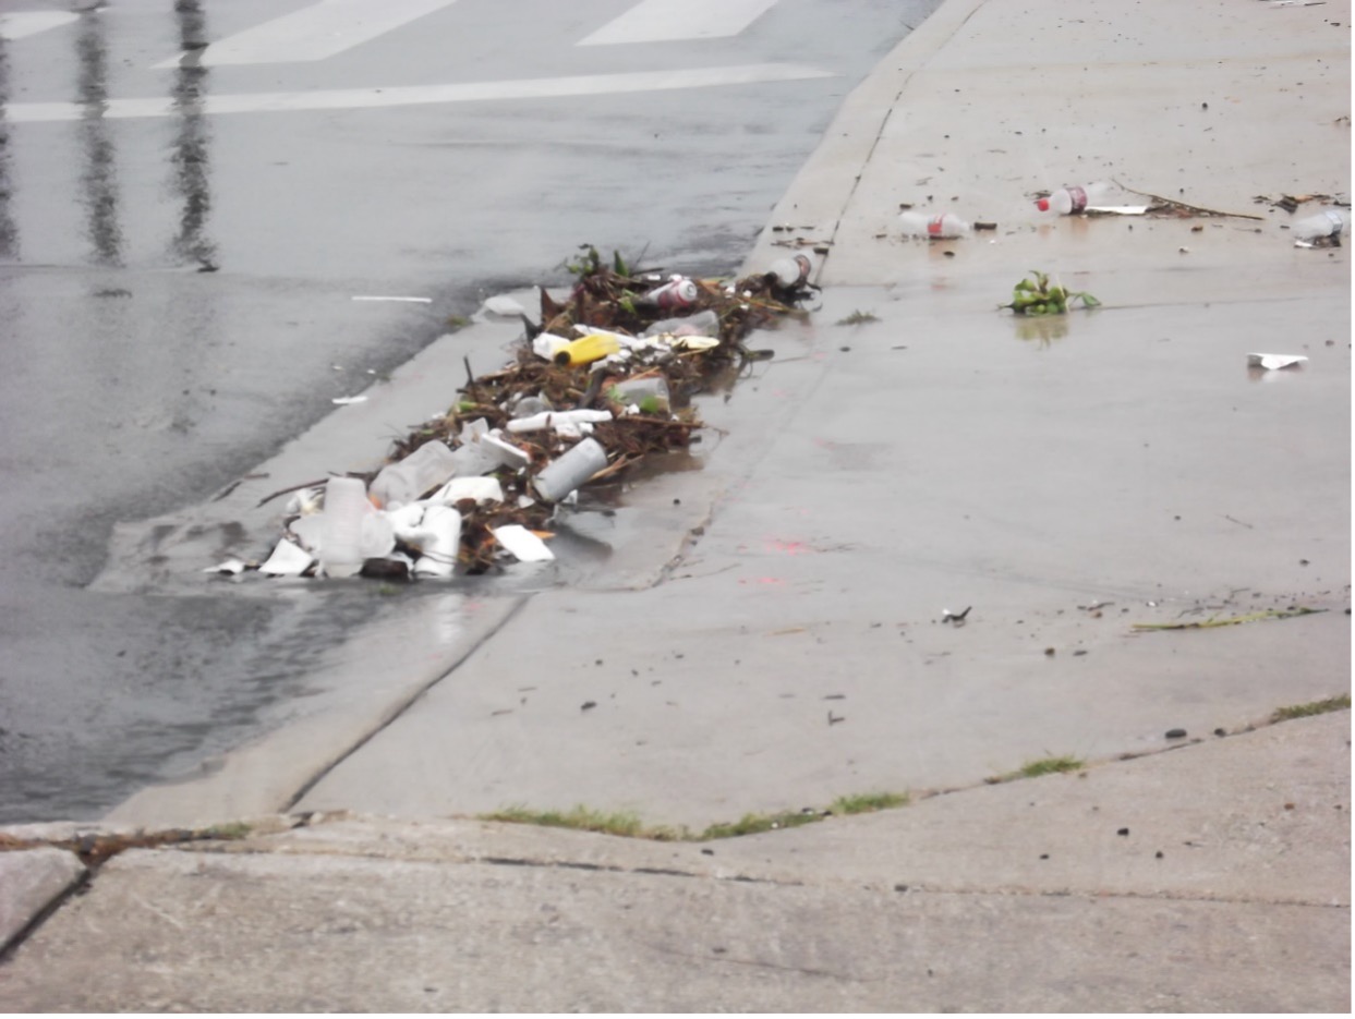
[(562, 302), (545, 287), (541, 321), (507, 298), (497, 314), (526, 327), (514, 359), (473, 377), (449, 411), (397, 439), (377, 470), (331, 476), (291, 495), (285, 534), (262, 561), (203, 572), (413, 580), (486, 573), (554, 558), (560, 504), (646, 457), (698, 442), (691, 397), (749, 360), (744, 340), (817, 290), (806, 255), (741, 279), (690, 279), (626, 266), (596, 248), (568, 263)]

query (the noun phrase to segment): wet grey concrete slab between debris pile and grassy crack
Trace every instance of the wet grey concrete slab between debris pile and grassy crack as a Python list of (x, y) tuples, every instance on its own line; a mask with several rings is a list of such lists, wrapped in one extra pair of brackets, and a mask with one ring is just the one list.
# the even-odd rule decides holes
[[(776, 358), (707, 405), (728, 428), (703, 454), (711, 519), (664, 583), (535, 596), (298, 806), (584, 802), (699, 829), (1161, 749), (1340, 691), (1341, 295), (1104, 308), (1047, 343), (954, 299), (837, 287), (759, 336)], [(837, 324), (854, 310), (878, 321)], [(1309, 365), (1251, 374), (1295, 316)], [(1134, 629), (1295, 604), (1321, 611)]]

